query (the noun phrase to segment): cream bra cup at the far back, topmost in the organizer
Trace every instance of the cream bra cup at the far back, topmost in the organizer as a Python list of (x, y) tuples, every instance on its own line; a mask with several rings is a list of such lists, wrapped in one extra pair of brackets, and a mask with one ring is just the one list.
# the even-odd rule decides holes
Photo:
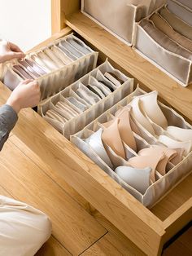
[(140, 97), (140, 106), (143, 112), (146, 113), (146, 115), (151, 119), (151, 121), (166, 129), (168, 127), (168, 121), (162, 110), (159, 108), (157, 103), (157, 95), (157, 91), (152, 91), (149, 94), (143, 95)]

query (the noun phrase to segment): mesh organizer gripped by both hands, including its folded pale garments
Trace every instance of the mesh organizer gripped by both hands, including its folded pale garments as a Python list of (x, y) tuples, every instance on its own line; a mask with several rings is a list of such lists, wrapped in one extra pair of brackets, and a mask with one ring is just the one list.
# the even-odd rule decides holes
[[(33, 73), (28, 71), (31, 76), (28, 78), (35, 79), (40, 85), (42, 100), (55, 95), (94, 69), (98, 53), (70, 34), (41, 48), (40, 51), (30, 53), (26, 58), (27, 61), (34, 61), (35, 67), (41, 68), (43, 71), (43, 74), (39, 73), (38, 77), (34, 76), (34, 70)], [(51, 62), (49, 62), (50, 59)], [(20, 71), (21, 67), (22, 65), (17, 60), (7, 63), (3, 67), (3, 82), (11, 90), (25, 78), (24, 69), (22, 68)], [(36, 71), (38, 70), (36, 69)]]

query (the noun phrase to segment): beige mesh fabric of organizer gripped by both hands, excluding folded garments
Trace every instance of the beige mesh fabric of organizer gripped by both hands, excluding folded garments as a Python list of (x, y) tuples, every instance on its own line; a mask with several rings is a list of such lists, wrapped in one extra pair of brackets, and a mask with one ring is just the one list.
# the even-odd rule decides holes
[[(89, 73), (93, 68), (95, 68), (98, 60), (98, 53), (94, 52), (91, 48), (85, 45), (84, 42), (82, 42), (79, 38), (76, 38), (75, 36), (68, 35), (64, 38), (60, 38), (59, 40), (56, 40), (53, 43), (50, 43), (50, 45), (46, 47), (42, 47), (38, 52), (33, 52), (27, 55), (28, 60), (33, 60), (32, 56), (41, 52), (45, 52), (47, 49), (50, 49), (52, 46), (58, 46), (59, 43), (65, 42), (69, 44), (68, 40), (74, 39), (76, 42), (79, 42), (82, 47), (85, 48), (85, 52), (80, 52), (79, 56), (76, 57), (72, 55), (71, 59), (72, 61), (68, 64), (63, 64), (63, 67), (56, 68), (55, 70), (47, 70), (45, 74), (39, 76), (39, 77), (32, 77), (35, 79), (41, 88), (41, 100), (46, 99), (50, 97), (51, 95), (55, 95), (59, 90), (63, 90), (65, 87), (69, 86), (72, 82), (75, 82), (80, 77), (84, 76), (86, 73)], [(72, 50), (76, 51), (76, 48), (74, 49), (73, 46)], [(59, 49), (60, 50), (60, 49)], [(67, 51), (67, 50), (66, 50)], [(68, 51), (67, 51), (68, 53)], [(70, 52), (68, 53), (68, 55)], [(67, 55), (67, 56), (68, 56)], [(3, 74), (3, 82), (6, 86), (8, 86), (11, 90), (15, 88), (21, 81), (24, 79), (20, 77), (18, 73), (15, 73), (15, 71), (12, 69), (13, 65), (19, 65), (17, 61), (15, 61), (13, 64), (8, 62), (3, 66), (4, 74)], [(37, 64), (37, 63), (36, 63)], [(44, 63), (43, 63), (44, 64)], [(44, 64), (44, 66), (46, 66)], [(39, 65), (38, 65), (39, 67)], [(45, 70), (45, 67), (42, 67)], [(47, 67), (46, 67), (47, 68)]]

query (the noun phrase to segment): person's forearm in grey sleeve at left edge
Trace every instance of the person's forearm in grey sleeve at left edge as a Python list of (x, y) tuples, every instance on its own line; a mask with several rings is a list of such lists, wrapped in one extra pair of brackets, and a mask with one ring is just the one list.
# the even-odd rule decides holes
[(11, 106), (5, 104), (0, 107), (0, 151), (17, 120), (17, 113)]

